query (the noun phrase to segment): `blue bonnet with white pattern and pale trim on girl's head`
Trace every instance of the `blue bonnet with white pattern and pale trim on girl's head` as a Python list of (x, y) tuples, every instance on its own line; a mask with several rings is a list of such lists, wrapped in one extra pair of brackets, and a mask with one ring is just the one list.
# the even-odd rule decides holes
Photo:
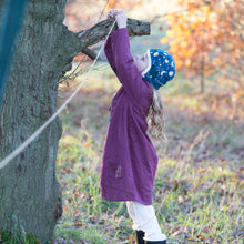
[(156, 90), (172, 80), (175, 74), (173, 57), (161, 49), (148, 49), (149, 65), (142, 72), (142, 79), (150, 82)]

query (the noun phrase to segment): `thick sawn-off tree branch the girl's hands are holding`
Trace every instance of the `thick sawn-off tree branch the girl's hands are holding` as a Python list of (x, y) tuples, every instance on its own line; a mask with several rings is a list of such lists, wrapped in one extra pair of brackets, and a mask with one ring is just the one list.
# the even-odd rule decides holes
[[(113, 23), (113, 20), (106, 19), (95, 26), (78, 33), (78, 38), (81, 40), (82, 50), (89, 45), (93, 45), (99, 41), (105, 39), (109, 30)], [(118, 27), (114, 26), (114, 30)], [(140, 20), (128, 19), (128, 31), (130, 35), (149, 35), (150, 22), (142, 22)]]

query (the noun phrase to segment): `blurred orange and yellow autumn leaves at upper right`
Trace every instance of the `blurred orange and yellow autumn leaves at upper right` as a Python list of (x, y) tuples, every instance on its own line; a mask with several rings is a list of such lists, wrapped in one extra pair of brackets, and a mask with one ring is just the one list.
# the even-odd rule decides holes
[[(244, 90), (244, 1), (179, 0), (182, 11), (166, 17), (170, 44), (177, 70), (200, 75), (217, 73), (217, 81), (236, 82)], [(241, 94), (240, 94), (241, 95)]]

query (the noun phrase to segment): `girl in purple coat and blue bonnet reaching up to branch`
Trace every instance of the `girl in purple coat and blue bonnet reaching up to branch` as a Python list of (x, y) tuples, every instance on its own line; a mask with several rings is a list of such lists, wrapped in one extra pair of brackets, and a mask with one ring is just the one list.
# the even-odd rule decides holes
[(126, 14), (110, 10), (108, 18), (115, 19), (119, 29), (108, 39), (104, 51), (122, 85), (110, 110), (101, 166), (102, 199), (126, 202), (139, 244), (165, 244), (166, 236), (161, 232), (152, 206), (157, 155), (146, 131), (149, 125), (153, 139), (164, 138), (163, 106), (157, 89), (173, 79), (174, 61), (160, 49), (149, 49), (133, 59)]

